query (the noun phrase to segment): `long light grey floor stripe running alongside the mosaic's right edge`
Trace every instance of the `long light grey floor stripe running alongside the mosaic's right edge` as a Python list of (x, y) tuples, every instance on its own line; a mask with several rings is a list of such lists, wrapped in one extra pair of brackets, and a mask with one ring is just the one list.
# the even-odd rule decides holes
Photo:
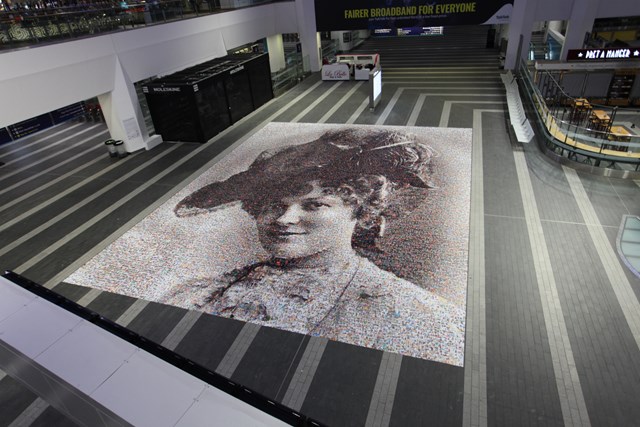
[[(448, 124), (448, 119), (446, 124)], [(462, 425), (487, 425), (487, 324), (484, 253), (484, 166), (482, 110), (473, 111), (469, 276), (464, 348)]]

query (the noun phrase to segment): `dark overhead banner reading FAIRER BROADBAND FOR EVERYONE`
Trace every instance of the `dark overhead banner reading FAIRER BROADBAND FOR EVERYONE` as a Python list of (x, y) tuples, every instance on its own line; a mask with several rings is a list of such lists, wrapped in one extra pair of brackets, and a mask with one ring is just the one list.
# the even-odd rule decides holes
[(513, 0), (315, 0), (318, 31), (508, 23)]

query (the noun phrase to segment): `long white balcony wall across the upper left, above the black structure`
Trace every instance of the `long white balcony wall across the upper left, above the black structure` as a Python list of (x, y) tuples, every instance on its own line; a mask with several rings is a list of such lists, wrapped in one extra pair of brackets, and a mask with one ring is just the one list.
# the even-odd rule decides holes
[(112, 91), (116, 59), (136, 82), (295, 32), (294, 3), (283, 2), (2, 53), (0, 127)]

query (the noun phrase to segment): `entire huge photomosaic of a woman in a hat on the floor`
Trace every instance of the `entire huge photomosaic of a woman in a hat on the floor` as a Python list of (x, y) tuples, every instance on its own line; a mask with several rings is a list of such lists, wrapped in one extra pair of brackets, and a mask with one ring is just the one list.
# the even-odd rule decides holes
[(462, 366), (471, 130), (271, 123), (65, 281)]

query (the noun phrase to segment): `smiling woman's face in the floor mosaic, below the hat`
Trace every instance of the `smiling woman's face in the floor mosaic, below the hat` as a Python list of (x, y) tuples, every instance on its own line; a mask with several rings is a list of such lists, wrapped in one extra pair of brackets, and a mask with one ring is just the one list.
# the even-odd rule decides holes
[(350, 252), (356, 219), (353, 208), (315, 182), (306, 194), (265, 206), (256, 220), (264, 249), (277, 258), (305, 258)]

